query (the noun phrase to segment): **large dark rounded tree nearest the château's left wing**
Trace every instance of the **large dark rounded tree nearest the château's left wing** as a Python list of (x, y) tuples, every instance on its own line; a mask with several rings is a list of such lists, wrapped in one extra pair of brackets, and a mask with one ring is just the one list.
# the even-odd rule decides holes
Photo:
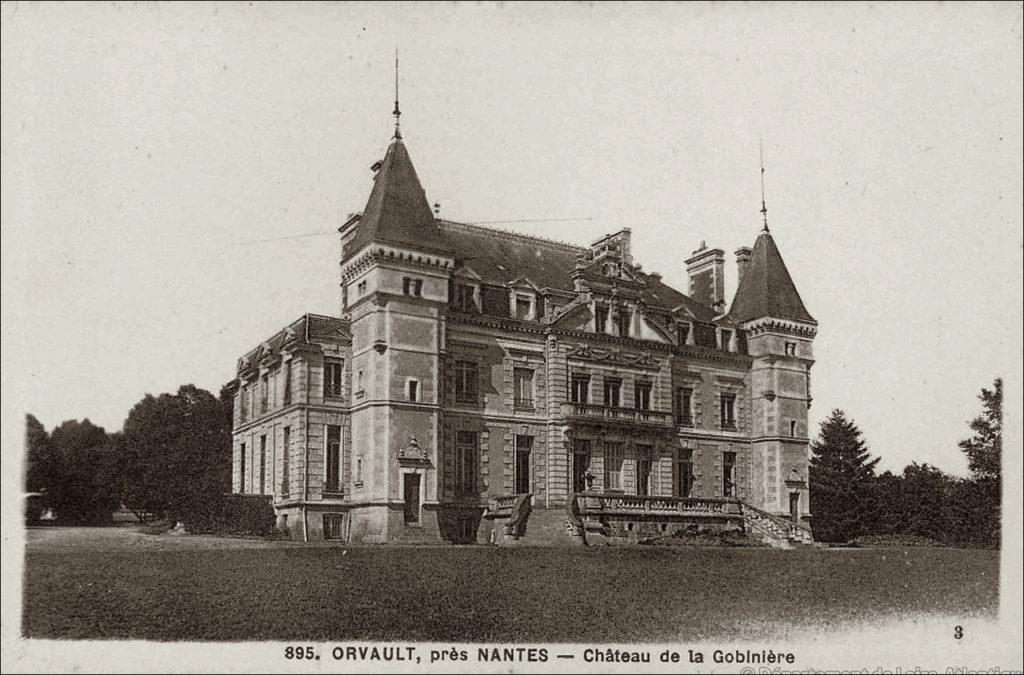
[(120, 439), (125, 504), (174, 520), (213, 518), (231, 488), (231, 432), (223, 405), (191, 384), (146, 394)]

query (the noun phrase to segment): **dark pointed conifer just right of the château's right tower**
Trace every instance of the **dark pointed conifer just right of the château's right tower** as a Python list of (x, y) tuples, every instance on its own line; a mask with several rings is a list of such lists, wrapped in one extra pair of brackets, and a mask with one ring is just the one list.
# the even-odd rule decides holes
[(860, 429), (837, 409), (811, 444), (810, 497), (814, 538), (846, 542), (867, 532), (876, 517), (874, 466)]

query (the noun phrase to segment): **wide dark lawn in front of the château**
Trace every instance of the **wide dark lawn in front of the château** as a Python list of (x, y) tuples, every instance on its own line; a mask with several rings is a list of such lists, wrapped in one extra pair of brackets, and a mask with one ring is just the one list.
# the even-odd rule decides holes
[(995, 551), (343, 549), (119, 529), (29, 534), (28, 637), (763, 639), (997, 606)]

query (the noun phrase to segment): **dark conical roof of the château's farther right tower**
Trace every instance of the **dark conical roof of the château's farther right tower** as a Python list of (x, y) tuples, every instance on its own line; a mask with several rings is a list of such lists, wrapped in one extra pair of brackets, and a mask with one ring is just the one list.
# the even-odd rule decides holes
[(773, 317), (817, 324), (804, 307), (775, 240), (767, 231), (761, 233), (754, 244), (743, 281), (732, 299), (729, 317), (740, 323)]

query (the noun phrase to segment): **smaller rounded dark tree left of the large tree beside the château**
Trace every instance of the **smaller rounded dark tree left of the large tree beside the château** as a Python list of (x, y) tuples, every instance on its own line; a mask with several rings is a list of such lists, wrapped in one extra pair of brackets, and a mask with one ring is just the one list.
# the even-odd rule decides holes
[(57, 519), (71, 524), (110, 522), (120, 499), (114, 480), (116, 457), (103, 428), (88, 419), (68, 420), (53, 429), (48, 445), (48, 459), (36, 476), (45, 483), (45, 502)]

